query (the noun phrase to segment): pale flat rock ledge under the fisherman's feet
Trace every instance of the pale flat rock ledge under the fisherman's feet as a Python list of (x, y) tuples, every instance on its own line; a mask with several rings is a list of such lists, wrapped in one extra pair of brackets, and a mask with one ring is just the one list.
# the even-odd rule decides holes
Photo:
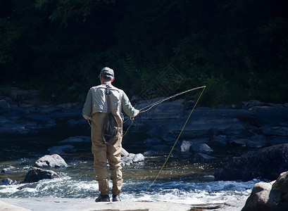
[[(4, 202), (4, 203), (1, 203)], [(5, 204), (6, 203), (6, 204)], [(163, 201), (121, 201), (117, 203), (95, 203), (93, 198), (1, 198), (0, 210), (6, 211), (25, 211), (25, 210), (45, 210), (45, 211), (76, 211), (76, 210), (149, 210), (149, 211), (166, 211), (166, 210), (217, 210), (217, 211), (237, 211), (244, 206), (245, 200), (241, 203), (227, 202), (225, 204), (211, 205), (184, 205), (179, 203), (168, 203)], [(12, 205), (12, 206), (11, 206)], [(17, 206), (13, 207), (13, 205)], [(213, 208), (214, 207), (214, 208)], [(13, 210), (14, 209), (14, 210)]]

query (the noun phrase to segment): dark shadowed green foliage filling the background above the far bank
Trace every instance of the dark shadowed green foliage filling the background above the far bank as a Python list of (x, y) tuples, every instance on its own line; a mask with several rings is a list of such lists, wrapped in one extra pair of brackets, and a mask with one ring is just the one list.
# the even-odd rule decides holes
[(84, 101), (104, 66), (132, 96), (172, 64), (184, 77), (174, 91), (206, 85), (205, 106), (284, 103), (287, 11), (268, 0), (1, 1), (0, 79)]

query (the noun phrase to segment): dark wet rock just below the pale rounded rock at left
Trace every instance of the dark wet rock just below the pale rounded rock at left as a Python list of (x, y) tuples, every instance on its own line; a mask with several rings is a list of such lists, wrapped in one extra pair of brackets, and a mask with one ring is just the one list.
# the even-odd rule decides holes
[(24, 181), (25, 182), (35, 182), (41, 179), (54, 179), (59, 178), (56, 172), (51, 170), (42, 170), (37, 167), (31, 167), (30, 171), (27, 172)]

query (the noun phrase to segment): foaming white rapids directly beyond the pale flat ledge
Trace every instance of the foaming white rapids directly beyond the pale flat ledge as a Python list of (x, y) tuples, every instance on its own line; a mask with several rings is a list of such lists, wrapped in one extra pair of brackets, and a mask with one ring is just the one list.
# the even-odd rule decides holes
[[(258, 181), (156, 181), (146, 191), (151, 181), (124, 181), (121, 198), (129, 201), (160, 200), (183, 204), (225, 203), (245, 200), (256, 182)], [(96, 198), (99, 194), (96, 181), (75, 180), (68, 176), (44, 179), (19, 190), (23, 185), (25, 184), (0, 186), (0, 198)]]

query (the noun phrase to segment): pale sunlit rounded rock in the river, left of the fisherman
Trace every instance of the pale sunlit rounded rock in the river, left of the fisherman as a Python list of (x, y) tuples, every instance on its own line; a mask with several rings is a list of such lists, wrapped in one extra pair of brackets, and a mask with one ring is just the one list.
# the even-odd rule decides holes
[(67, 163), (60, 155), (45, 155), (35, 162), (35, 167), (49, 168), (49, 167), (67, 167)]

